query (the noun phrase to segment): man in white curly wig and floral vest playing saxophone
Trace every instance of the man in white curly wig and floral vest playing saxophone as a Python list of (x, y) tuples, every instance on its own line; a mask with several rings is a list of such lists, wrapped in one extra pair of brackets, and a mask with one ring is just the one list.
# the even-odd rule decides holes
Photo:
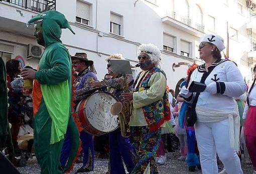
[(133, 101), (130, 120), (132, 142), (137, 160), (132, 173), (158, 173), (155, 162), (161, 140), (160, 126), (170, 119), (170, 107), (166, 91), (166, 75), (158, 66), (161, 52), (154, 44), (139, 47), (142, 71), (134, 82), (134, 92), (121, 94), (122, 101)]

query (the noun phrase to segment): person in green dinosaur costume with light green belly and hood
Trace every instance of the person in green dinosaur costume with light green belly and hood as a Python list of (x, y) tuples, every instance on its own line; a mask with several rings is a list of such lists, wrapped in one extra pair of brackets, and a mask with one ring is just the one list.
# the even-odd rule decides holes
[[(28, 21), (28, 24), (34, 23), (34, 35), (45, 50), (37, 71), (28, 68), (22, 71), (24, 79), (35, 79), (34, 149), (41, 173), (62, 173), (71, 165), (79, 145), (78, 129), (71, 115), (71, 58), (60, 40), (61, 28), (74, 31), (58, 11), (42, 12)], [(62, 168), (59, 161), (67, 127), (71, 129), (73, 145), (66, 168)]]

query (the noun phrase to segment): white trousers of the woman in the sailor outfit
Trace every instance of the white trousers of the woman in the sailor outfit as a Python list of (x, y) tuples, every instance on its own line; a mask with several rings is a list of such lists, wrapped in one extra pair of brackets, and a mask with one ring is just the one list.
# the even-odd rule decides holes
[(217, 158), (228, 174), (242, 174), (241, 163), (229, 142), (228, 119), (217, 122), (196, 122), (196, 139), (203, 174), (217, 174)]

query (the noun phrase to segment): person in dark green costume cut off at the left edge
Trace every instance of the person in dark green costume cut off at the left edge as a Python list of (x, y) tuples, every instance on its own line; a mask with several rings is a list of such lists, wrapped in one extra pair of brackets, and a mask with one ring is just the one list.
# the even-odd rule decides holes
[(0, 151), (5, 147), (9, 149), (9, 160), (15, 162), (14, 146), (12, 142), (12, 134), (8, 121), (8, 97), (6, 83), (6, 66), (5, 62), (0, 57)]

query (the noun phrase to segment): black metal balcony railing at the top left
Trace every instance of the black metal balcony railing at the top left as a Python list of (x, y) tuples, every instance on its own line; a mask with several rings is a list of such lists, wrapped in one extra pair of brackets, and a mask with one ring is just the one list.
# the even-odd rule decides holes
[(36, 12), (56, 10), (56, 0), (0, 0), (6, 1)]

